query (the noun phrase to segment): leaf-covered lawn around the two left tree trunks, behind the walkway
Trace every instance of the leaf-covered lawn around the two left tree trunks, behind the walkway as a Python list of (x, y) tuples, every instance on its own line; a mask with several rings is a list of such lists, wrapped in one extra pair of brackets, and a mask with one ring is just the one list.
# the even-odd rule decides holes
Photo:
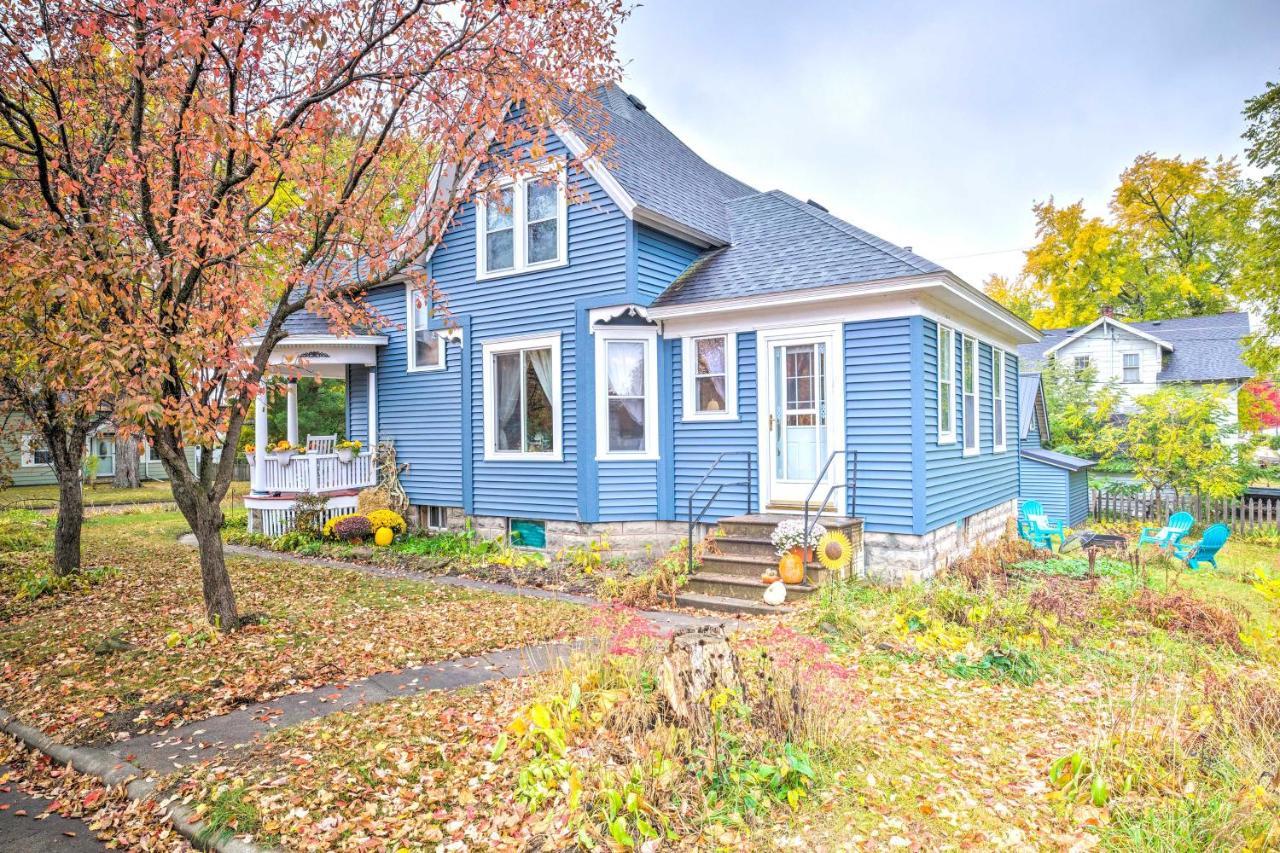
[(230, 558), (242, 613), (202, 617), (195, 549), (175, 512), (84, 525), (84, 581), (29, 598), (47, 574), (49, 519), (0, 526), (0, 706), (63, 740), (197, 720), (255, 699), (411, 663), (573, 635), (589, 612), (558, 602)]

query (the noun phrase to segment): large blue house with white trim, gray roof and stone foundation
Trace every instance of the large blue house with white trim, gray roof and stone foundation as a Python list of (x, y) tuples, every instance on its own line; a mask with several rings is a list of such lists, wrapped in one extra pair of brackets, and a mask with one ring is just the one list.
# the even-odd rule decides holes
[[(613, 149), (568, 175), (588, 201), (521, 181), (456, 211), (426, 260), (448, 328), (388, 284), (367, 295), (379, 334), (303, 315), (274, 364), (346, 379), (347, 434), (394, 443), (431, 528), (636, 552), (685, 535), (699, 484), (694, 515), (709, 500), (716, 521), (817, 508), (852, 479), (829, 511), (864, 520), (877, 573), (927, 575), (1001, 534), (1016, 353), (1038, 333), (910, 250), (719, 172), (621, 88), (600, 97)], [(580, 146), (561, 127), (548, 154)], [(264, 414), (265, 397), (259, 443)], [(269, 529), (296, 491), (351, 506), (365, 456), (259, 455), (247, 505)]]

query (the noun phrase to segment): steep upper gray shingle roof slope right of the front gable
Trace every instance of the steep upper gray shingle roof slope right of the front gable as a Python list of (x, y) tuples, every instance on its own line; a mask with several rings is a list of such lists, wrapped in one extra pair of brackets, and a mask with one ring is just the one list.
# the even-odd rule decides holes
[[(755, 190), (694, 154), (618, 86), (596, 93), (604, 131), (612, 140), (603, 161), (635, 202), (721, 242), (728, 242), (724, 201)], [(589, 123), (575, 122), (590, 137)]]

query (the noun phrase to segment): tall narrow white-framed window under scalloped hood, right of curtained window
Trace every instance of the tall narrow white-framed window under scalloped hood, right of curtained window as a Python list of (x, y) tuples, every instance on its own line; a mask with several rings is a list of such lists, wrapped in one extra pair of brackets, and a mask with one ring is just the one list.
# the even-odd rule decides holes
[(658, 459), (657, 332), (595, 334), (596, 456)]

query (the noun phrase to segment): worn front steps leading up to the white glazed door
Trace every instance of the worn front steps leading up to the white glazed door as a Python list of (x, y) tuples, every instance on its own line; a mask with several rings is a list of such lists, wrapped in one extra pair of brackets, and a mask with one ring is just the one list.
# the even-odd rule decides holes
[[(817, 561), (805, 567), (801, 584), (787, 584), (787, 601), (780, 607), (764, 603), (765, 584), (760, 575), (778, 574), (778, 556), (769, 540), (773, 529), (783, 519), (799, 517), (781, 512), (739, 515), (721, 519), (714, 539), (714, 551), (704, 553), (703, 565), (689, 579), (689, 584), (676, 601), (686, 607), (718, 610), (724, 612), (780, 613), (790, 612), (790, 605), (813, 596), (818, 588), (833, 580), (833, 574)], [(838, 529), (854, 543), (854, 558), (861, 555), (860, 519), (822, 517), (828, 530)], [(713, 551), (713, 549), (708, 549)]]

